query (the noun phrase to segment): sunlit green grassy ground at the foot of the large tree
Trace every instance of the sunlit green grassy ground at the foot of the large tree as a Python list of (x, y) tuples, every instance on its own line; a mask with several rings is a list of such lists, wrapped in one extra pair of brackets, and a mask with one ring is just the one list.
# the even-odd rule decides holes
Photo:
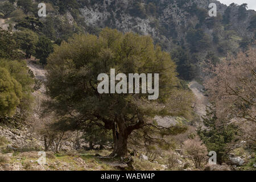
[[(46, 164), (40, 165), (38, 151), (17, 152), (0, 147), (0, 171), (113, 171), (121, 170), (118, 159), (101, 158), (111, 151), (47, 152)], [(97, 154), (97, 156), (96, 156)], [(133, 157), (135, 170), (163, 170), (161, 164)]]

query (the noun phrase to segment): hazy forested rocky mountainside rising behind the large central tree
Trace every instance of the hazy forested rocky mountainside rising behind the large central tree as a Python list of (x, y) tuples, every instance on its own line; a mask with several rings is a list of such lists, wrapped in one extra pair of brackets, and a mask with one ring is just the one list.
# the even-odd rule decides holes
[[(34, 32), (56, 44), (75, 33), (98, 34), (103, 27), (149, 34), (155, 44), (171, 52), (180, 77), (185, 80), (200, 76), (201, 62), (216, 62), (230, 53), (247, 49), (255, 40), (255, 11), (246, 10), (246, 4), (232, 3), (226, 7), (214, 1), (217, 17), (209, 17), (209, 1), (46, 2), (46, 18), (38, 17), (38, 3), (33, 1), (18, 1), (16, 8), (12, 2), (4, 1), (1, 16), (9, 18), (15, 28), (23, 29), (20, 36), (34, 35)], [(47, 39), (42, 38), (40, 42)], [(30, 51), (35, 55), (35, 50), (30, 49), (26, 49), (28, 56)], [(37, 55), (39, 59), (42, 56), (45, 57)]]

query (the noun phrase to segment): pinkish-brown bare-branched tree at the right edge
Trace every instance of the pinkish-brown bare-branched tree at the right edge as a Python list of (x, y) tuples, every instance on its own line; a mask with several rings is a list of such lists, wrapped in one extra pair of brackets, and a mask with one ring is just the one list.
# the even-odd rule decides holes
[(207, 69), (210, 101), (216, 104), (218, 117), (256, 121), (256, 52), (250, 48), (230, 60)]

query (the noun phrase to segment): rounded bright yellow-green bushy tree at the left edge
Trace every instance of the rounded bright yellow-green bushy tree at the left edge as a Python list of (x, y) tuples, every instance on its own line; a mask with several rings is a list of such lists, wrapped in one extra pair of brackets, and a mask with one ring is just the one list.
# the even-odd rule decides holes
[[(1, 59), (0, 72), (0, 88), (2, 88), (3, 85), (9, 88), (5, 90), (0, 89), (0, 114), (15, 114), (16, 107), (18, 106), (20, 113), (26, 115), (27, 111), (30, 110), (32, 100), (31, 93), (34, 91), (32, 89), (34, 80), (28, 74), (26, 62)], [(1, 82), (1, 80), (3, 82)], [(8, 82), (10, 84), (7, 84)], [(5, 100), (5, 98), (8, 99)]]

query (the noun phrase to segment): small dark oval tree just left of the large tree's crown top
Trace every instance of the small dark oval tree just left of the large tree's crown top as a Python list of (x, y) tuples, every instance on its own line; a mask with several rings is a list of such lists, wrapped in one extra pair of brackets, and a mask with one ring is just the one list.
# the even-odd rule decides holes
[(50, 39), (45, 36), (40, 36), (36, 43), (35, 56), (40, 60), (40, 63), (47, 64), (47, 57), (53, 52), (53, 44)]

